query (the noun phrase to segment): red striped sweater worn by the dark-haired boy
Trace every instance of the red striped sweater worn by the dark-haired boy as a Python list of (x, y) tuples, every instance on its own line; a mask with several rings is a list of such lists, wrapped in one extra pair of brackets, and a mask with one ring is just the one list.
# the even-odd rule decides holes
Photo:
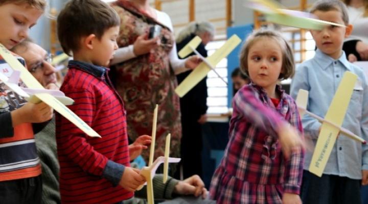
[(115, 203), (133, 196), (102, 177), (108, 160), (130, 166), (124, 104), (104, 78), (69, 67), (60, 90), (75, 100), (68, 106), (102, 138), (85, 135), (73, 123), (56, 115), (63, 203)]

